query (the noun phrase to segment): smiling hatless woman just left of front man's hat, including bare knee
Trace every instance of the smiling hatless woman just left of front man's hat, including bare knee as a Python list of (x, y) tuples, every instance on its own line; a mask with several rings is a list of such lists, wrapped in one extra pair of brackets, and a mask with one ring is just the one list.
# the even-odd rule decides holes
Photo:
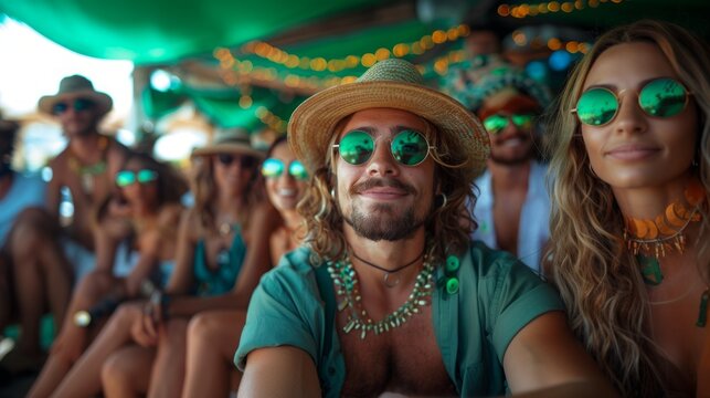
[[(277, 138), (266, 153), (262, 176), (268, 199), (284, 221), (268, 240), (272, 262), (277, 264), (282, 255), (298, 248), (306, 234), (296, 206), (306, 191), (308, 174), (288, 147), (286, 136)], [(241, 373), (232, 359), (245, 314), (246, 308), (210, 311), (190, 321), (183, 397), (226, 397), (230, 389), (236, 390)]]

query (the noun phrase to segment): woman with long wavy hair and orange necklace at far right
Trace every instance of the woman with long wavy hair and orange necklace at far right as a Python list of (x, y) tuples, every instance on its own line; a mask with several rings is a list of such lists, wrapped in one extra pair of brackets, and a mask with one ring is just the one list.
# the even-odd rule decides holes
[(624, 396), (710, 394), (709, 75), (706, 43), (639, 21), (560, 98), (547, 273)]

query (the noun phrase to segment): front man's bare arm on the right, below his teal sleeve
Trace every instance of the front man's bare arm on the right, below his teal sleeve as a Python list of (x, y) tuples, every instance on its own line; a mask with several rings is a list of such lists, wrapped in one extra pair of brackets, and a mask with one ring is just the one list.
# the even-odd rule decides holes
[(573, 337), (562, 312), (526, 325), (504, 357), (510, 390), (540, 397), (614, 397), (616, 391)]

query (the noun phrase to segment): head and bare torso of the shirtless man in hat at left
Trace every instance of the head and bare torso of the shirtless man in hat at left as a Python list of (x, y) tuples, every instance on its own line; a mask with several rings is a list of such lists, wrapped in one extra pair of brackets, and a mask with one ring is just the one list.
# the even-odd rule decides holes
[(52, 161), (47, 188), (50, 211), (59, 219), (61, 189), (67, 187), (74, 216), (67, 232), (81, 247), (92, 250), (91, 214), (95, 203), (108, 195), (113, 176), (123, 165), (127, 148), (98, 133), (98, 123), (112, 109), (112, 98), (94, 90), (81, 75), (62, 78), (54, 95), (40, 98), (40, 112), (53, 115), (68, 138), (66, 148)]

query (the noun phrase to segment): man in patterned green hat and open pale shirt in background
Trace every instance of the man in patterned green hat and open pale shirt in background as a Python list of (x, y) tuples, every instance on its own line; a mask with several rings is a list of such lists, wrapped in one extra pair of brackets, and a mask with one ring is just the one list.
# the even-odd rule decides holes
[(538, 161), (538, 116), (550, 102), (548, 88), (497, 55), (479, 55), (449, 70), (444, 84), (474, 112), (490, 138), (486, 171), (476, 179), (471, 202), (478, 228), (473, 239), (517, 255), (536, 272), (550, 239), (547, 166)]

